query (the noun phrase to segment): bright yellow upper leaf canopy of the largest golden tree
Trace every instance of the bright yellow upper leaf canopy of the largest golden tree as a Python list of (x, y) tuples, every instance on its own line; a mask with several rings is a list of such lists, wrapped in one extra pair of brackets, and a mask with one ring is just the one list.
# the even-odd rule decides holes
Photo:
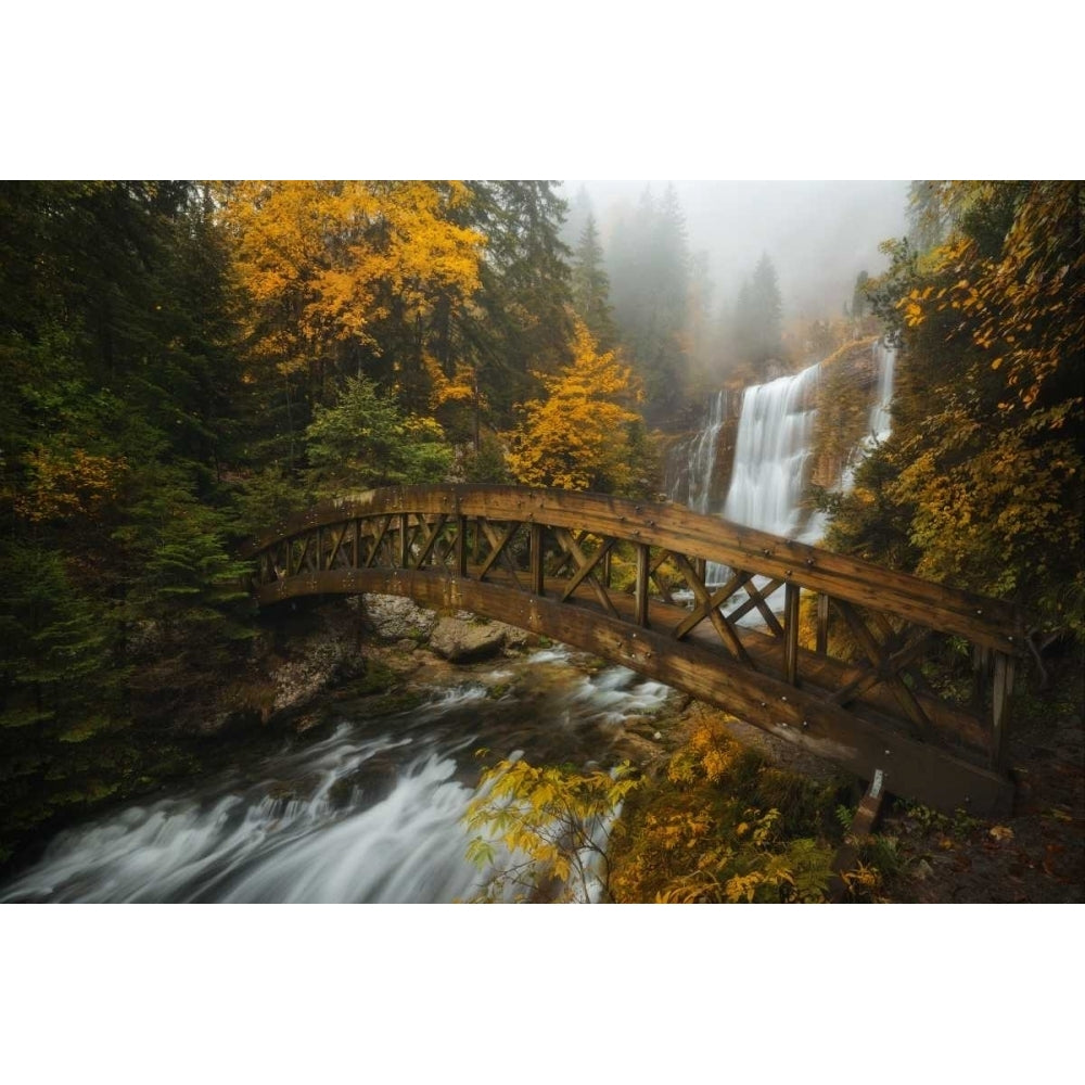
[(449, 214), (470, 199), (460, 181), (240, 181), (220, 196), (253, 358), (282, 373), (335, 342), (375, 349), (393, 303), (413, 320), (478, 288), (483, 238)]

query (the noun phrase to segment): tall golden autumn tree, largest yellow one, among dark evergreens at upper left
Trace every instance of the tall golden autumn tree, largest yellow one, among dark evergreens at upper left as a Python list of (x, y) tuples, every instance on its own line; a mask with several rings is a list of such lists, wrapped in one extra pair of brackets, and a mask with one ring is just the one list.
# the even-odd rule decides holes
[(275, 407), (285, 455), (294, 459), (312, 406), (347, 374), (424, 409), (426, 362), (445, 348), (449, 310), (480, 282), (482, 234), (458, 220), (470, 189), (242, 181), (218, 199), (243, 292), (248, 379)]

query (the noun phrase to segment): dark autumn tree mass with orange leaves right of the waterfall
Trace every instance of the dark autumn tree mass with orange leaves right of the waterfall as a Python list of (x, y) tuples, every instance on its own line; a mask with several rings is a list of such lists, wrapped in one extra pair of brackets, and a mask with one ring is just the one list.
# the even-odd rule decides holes
[(830, 539), (853, 549), (870, 537), (869, 475), (885, 545), (911, 554), (915, 572), (1016, 599), (1035, 624), (1085, 636), (1085, 186), (924, 191), (945, 240), (923, 253), (891, 245), (870, 292), (901, 343), (893, 435)]

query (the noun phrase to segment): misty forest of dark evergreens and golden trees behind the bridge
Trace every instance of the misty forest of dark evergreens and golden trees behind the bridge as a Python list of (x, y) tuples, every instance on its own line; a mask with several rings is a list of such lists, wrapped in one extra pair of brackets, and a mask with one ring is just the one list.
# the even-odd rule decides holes
[(821, 494), (826, 545), (1021, 604), (1037, 681), (1081, 656), (1085, 183), (916, 181), (888, 269), (805, 320), (767, 252), (714, 296), (671, 187), (605, 235), (577, 210), (553, 181), (0, 184), (0, 869), (191, 773), (179, 713), (258, 718), (253, 533), (397, 483), (654, 498), (709, 394), (864, 336), (901, 354), (893, 430)]

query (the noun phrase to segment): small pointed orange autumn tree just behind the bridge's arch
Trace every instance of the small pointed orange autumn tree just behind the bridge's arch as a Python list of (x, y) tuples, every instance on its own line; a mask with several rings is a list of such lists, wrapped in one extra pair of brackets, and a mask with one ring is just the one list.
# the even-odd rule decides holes
[(637, 384), (613, 352), (600, 353), (583, 321), (575, 323), (573, 360), (540, 374), (545, 399), (524, 405), (510, 434), (509, 471), (527, 486), (628, 494), (643, 462)]

